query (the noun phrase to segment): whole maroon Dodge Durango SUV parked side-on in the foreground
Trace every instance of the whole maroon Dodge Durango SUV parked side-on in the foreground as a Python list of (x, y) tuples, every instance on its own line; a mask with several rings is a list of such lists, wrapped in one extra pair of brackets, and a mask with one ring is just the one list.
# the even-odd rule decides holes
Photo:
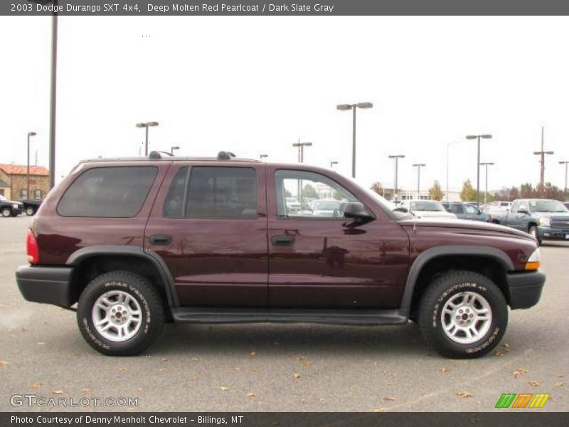
[[(287, 209), (295, 196), (300, 209)], [(314, 199), (339, 201), (313, 214)], [(331, 204), (333, 205), (333, 204)], [(165, 321), (417, 322), (447, 357), (479, 357), (511, 309), (538, 302), (536, 240), (474, 221), (415, 218), (304, 164), (216, 158), (78, 164), (28, 232), (26, 300), (77, 306), (99, 352), (138, 354)]]

